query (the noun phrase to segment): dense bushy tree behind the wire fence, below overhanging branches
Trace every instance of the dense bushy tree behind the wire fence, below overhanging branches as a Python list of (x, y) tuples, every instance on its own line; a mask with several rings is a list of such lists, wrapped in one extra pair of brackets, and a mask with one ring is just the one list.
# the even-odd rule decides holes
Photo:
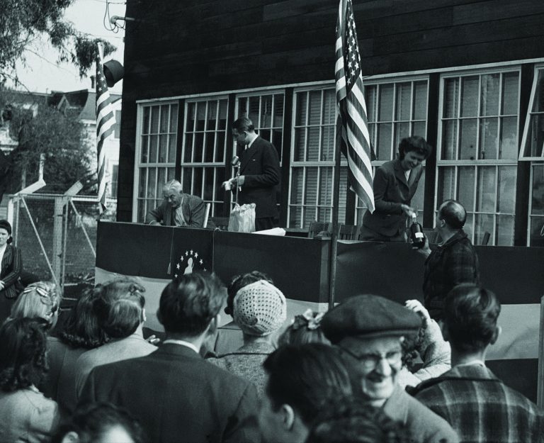
[[(0, 89), (0, 106), (13, 102), (13, 92)], [(7, 106), (9, 108), (9, 106)], [(76, 181), (84, 179), (89, 189), (96, 183), (90, 172), (87, 129), (74, 111), (62, 113), (49, 106), (45, 98), (33, 103), (32, 108), (14, 104), (8, 123), (11, 138), (18, 147), (8, 155), (0, 152), (0, 200), (5, 193), (13, 193), (38, 179), (40, 158), (45, 160), (44, 179), (47, 192), (63, 192)], [(94, 180), (92, 180), (94, 179)]]

